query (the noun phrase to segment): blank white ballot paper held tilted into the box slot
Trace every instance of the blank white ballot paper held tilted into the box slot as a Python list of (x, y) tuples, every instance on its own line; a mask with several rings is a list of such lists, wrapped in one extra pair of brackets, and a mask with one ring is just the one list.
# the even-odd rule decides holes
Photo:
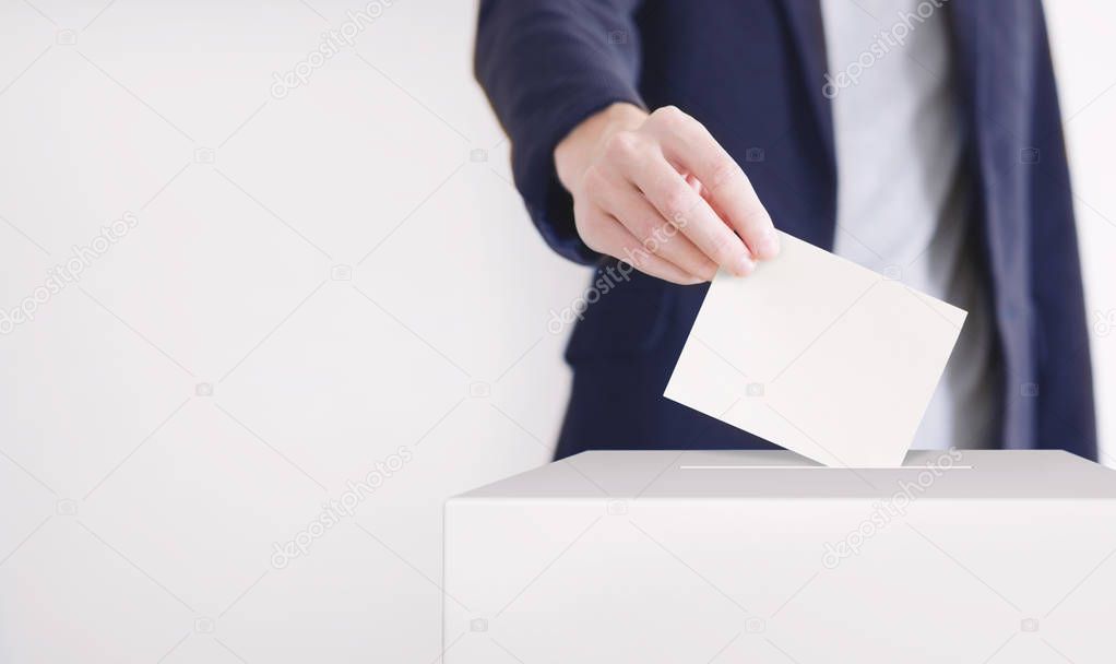
[(965, 311), (781, 240), (716, 276), (664, 396), (826, 465), (901, 465)]

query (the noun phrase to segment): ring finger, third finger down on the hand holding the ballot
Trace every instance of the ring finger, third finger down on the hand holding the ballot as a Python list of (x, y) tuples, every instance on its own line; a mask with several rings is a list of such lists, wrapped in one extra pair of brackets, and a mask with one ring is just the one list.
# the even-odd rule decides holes
[(648, 253), (681, 268), (693, 277), (709, 281), (716, 276), (716, 263), (655, 210), (654, 205), (625, 182), (607, 210)]

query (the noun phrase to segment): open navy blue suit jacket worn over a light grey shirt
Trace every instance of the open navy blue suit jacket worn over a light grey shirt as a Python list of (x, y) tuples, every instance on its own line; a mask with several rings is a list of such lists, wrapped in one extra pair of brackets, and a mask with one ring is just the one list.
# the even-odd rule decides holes
[[(1003, 386), (999, 439), (979, 446), (1095, 459), (1088, 323), (1041, 4), (952, 0), (942, 11)], [(577, 237), (552, 151), (614, 102), (696, 117), (744, 165), (777, 227), (831, 249), (838, 174), (824, 39), (818, 0), (482, 0), (475, 69), (538, 230), (560, 254), (604, 269)], [(752, 148), (762, 161), (747, 160)], [(662, 396), (705, 288), (638, 275), (588, 308), (567, 348), (574, 389), (559, 458), (768, 445)]]

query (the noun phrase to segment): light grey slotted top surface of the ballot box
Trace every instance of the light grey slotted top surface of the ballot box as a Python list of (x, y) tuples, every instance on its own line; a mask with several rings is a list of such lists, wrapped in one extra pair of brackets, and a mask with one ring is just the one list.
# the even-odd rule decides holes
[(786, 451), (591, 451), (458, 497), (471, 499), (1116, 500), (1116, 472), (1048, 450), (912, 451), (898, 468), (824, 466)]

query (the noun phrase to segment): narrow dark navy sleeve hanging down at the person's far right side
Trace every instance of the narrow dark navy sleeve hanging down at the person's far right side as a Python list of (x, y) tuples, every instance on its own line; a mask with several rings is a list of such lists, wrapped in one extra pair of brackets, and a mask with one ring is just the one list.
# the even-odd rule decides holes
[(1035, 214), (1032, 297), (1043, 311), (1038, 323), (1042, 339), (1038, 364), (1041, 386), (1038, 443), (1071, 449), (1096, 459), (1089, 320), (1085, 310), (1072, 189), (1046, 21), (1041, 3), (1036, 1), (1036, 6), (1038, 60), (1031, 144), (1039, 150), (1039, 161), (1031, 169), (1030, 184)]

